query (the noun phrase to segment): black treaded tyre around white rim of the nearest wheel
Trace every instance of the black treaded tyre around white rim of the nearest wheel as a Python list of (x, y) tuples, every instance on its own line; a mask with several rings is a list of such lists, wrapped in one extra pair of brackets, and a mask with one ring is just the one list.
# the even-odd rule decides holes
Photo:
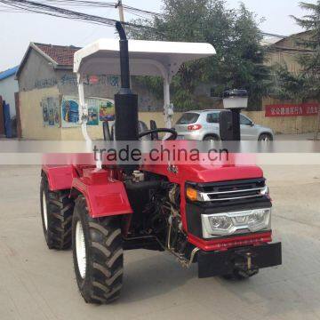
[[(89, 234), (87, 244), (90, 252), (87, 279), (79, 279), (76, 276), (80, 292), (87, 303), (109, 304), (119, 298), (123, 283), (124, 257), (121, 230), (113, 217), (91, 218), (84, 196), (76, 199), (75, 218), (79, 215), (87, 221)], [(74, 252), (74, 259), (75, 257)], [(76, 260), (75, 268), (77, 268)]]

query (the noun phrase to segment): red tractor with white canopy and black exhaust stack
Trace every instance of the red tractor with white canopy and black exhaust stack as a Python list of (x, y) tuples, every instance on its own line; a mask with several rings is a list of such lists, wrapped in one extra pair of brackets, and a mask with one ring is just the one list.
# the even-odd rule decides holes
[[(164, 76), (170, 128), (172, 76), (181, 63), (214, 54), (213, 47), (130, 41), (129, 54), (124, 29), (120, 23), (116, 28), (120, 50), (115, 40), (100, 40), (75, 55), (84, 138), (90, 141), (83, 75), (121, 74), (122, 89), (115, 97), (116, 141), (156, 139), (159, 132), (175, 140), (174, 130), (154, 124), (139, 133), (138, 97), (130, 90), (129, 70)], [(268, 187), (256, 166), (44, 165), (40, 192), (46, 243), (55, 250), (73, 248), (76, 281), (89, 303), (119, 298), (124, 250), (170, 252), (184, 267), (197, 263), (201, 278), (244, 279), (282, 263), (281, 244), (272, 243)]]

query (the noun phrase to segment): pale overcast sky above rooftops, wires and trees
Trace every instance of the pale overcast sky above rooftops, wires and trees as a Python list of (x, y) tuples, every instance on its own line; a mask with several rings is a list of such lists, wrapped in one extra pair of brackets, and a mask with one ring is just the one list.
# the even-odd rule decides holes
[[(301, 31), (290, 15), (301, 16), (300, 0), (243, 0), (252, 12), (265, 18), (261, 29), (278, 35), (291, 35)], [(316, 3), (316, 0), (308, 0)], [(227, 0), (228, 6), (235, 8), (238, 0)], [(161, 0), (124, 0), (124, 4), (141, 9), (160, 12)], [(1, 4), (0, 4), (1, 9)], [(94, 14), (117, 19), (115, 9), (91, 11)], [(126, 20), (134, 18), (125, 15)], [(44, 44), (63, 44), (83, 46), (100, 37), (113, 37), (113, 28), (96, 26), (84, 22), (53, 18), (33, 13), (8, 13), (0, 10), (0, 70), (11, 68), (20, 63), (30, 42)]]

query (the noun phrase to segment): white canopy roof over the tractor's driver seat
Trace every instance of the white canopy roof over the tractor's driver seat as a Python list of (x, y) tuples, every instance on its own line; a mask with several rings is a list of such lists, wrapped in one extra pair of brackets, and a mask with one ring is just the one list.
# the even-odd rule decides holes
[[(120, 75), (119, 40), (100, 39), (75, 54), (74, 71), (81, 75)], [(171, 78), (183, 62), (214, 55), (212, 44), (129, 40), (132, 76)]]

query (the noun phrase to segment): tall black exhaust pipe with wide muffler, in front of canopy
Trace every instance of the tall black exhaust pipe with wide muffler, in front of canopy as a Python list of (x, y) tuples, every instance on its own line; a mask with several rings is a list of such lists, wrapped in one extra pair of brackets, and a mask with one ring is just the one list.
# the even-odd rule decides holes
[(138, 95), (130, 88), (130, 66), (128, 40), (121, 22), (116, 22), (120, 36), (121, 89), (115, 95), (116, 140), (138, 141)]

